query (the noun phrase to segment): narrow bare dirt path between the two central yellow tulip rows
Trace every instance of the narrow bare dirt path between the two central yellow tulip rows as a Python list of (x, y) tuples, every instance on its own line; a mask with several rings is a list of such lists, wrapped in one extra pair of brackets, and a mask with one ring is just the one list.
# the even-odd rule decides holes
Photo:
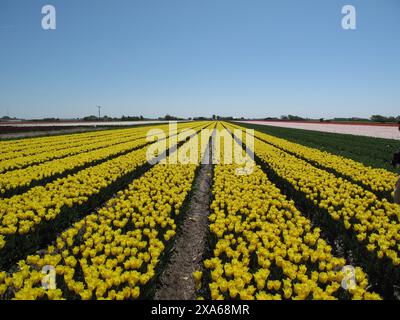
[(177, 236), (174, 252), (160, 277), (155, 300), (193, 300), (196, 298), (193, 272), (201, 269), (210, 214), (212, 164), (203, 164), (194, 183), (189, 209)]

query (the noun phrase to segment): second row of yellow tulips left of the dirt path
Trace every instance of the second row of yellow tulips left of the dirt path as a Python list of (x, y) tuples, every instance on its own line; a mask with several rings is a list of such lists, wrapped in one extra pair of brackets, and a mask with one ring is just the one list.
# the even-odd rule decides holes
[[(156, 142), (160, 152), (168, 148), (169, 139), (174, 138), (168, 138), (166, 145), (162, 141)], [(5, 246), (6, 236), (32, 232), (42, 221), (55, 219), (63, 207), (84, 204), (148, 160), (147, 148), (142, 148), (44, 186), (34, 187), (21, 195), (0, 199), (0, 249)]]

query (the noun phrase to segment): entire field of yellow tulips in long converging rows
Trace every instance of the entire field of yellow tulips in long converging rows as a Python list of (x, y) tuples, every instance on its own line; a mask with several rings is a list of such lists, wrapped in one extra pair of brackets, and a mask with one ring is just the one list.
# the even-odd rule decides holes
[(394, 172), (238, 123), (169, 129), (0, 141), (0, 299), (159, 296), (173, 257), (190, 254), (177, 243), (210, 165), (190, 297), (399, 298)]

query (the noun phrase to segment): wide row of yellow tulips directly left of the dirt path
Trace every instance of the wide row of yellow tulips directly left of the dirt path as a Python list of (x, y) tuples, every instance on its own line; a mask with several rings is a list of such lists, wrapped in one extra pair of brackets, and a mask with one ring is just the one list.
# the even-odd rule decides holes
[[(198, 143), (189, 141), (186, 144)], [(204, 147), (204, 146), (203, 146)], [(190, 147), (187, 149), (187, 152)], [(201, 149), (201, 155), (205, 149)], [(200, 157), (199, 157), (200, 158)], [(198, 164), (157, 164), (98, 212), (57, 237), (40, 255), (0, 273), (0, 296), (9, 299), (136, 299), (156, 276), (156, 268), (176, 232)], [(42, 286), (43, 267), (57, 282)], [(51, 284), (51, 281), (49, 281)]]

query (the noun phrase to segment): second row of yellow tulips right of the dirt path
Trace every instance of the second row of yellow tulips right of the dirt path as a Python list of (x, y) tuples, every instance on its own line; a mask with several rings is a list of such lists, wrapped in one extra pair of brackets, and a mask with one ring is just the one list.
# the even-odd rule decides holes
[(399, 205), (380, 200), (374, 193), (258, 139), (255, 154), (334, 220), (352, 229), (378, 258), (388, 257), (395, 266), (400, 264)]

